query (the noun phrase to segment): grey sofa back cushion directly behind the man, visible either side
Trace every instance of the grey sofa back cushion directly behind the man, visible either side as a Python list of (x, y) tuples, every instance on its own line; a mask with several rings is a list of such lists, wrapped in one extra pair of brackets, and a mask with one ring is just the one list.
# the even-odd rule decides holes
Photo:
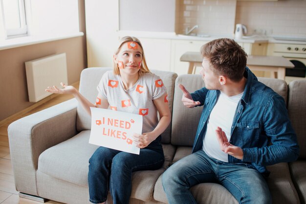
[[(287, 101), (288, 87), (285, 81), (263, 77), (259, 77), (258, 80), (283, 96), (285, 102)], [(180, 75), (175, 81), (171, 143), (193, 146), (203, 107), (186, 108), (181, 102), (182, 91), (178, 88), (178, 84), (193, 92), (204, 87), (204, 82), (200, 75), (194, 74)]]

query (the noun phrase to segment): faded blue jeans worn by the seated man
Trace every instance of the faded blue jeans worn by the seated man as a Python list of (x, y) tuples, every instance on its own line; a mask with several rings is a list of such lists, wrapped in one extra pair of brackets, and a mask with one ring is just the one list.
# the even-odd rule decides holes
[(189, 188), (204, 182), (223, 185), (240, 204), (272, 203), (266, 181), (252, 165), (212, 159), (203, 150), (178, 160), (162, 176), (169, 204), (197, 204)]

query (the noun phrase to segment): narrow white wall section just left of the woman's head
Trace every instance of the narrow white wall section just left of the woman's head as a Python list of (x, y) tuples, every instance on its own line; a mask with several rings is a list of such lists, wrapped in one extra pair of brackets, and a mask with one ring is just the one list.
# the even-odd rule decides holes
[(88, 67), (112, 67), (118, 44), (118, 0), (86, 0)]

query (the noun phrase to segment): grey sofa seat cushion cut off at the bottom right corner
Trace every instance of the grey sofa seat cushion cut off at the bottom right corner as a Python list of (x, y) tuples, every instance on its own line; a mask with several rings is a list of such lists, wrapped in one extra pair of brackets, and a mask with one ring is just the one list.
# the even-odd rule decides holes
[(306, 204), (306, 160), (289, 163), (291, 178), (299, 194), (301, 204)]

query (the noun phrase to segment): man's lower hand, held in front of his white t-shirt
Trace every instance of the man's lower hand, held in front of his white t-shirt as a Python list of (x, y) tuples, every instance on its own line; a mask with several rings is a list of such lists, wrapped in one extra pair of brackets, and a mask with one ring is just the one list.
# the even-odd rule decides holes
[(222, 131), (220, 127), (218, 127), (216, 130), (216, 136), (219, 141), (220, 149), (223, 152), (237, 159), (241, 159), (241, 160), (243, 159), (242, 149), (240, 147), (234, 146), (231, 143), (229, 143), (224, 131)]

